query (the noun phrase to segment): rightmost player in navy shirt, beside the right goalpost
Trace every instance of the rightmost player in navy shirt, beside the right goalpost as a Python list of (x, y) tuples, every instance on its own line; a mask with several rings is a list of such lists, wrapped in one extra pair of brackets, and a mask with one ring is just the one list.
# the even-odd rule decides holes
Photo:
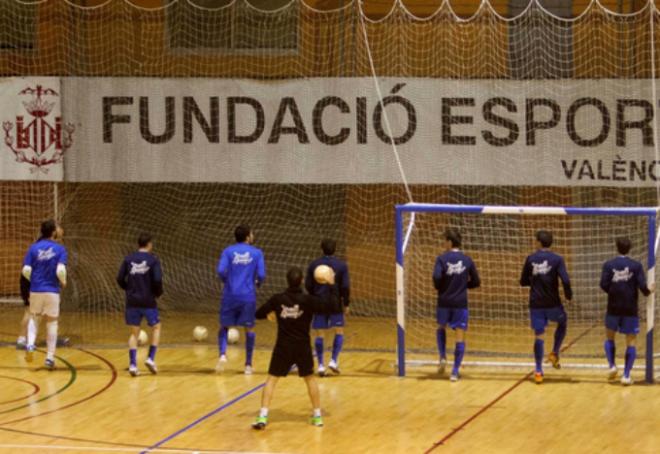
[(614, 337), (619, 331), (626, 335), (626, 356), (621, 383), (631, 385), (630, 371), (637, 356), (635, 340), (639, 333), (638, 292), (649, 296), (655, 285), (646, 285), (642, 264), (627, 256), (632, 244), (628, 238), (617, 238), (616, 249), (620, 256), (605, 262), (600, 278), (600, 288), (607, 293), (605, 316), (605, 355), (610, 366), (609, 378), (616, 378), (614, 362), (616, 348)]

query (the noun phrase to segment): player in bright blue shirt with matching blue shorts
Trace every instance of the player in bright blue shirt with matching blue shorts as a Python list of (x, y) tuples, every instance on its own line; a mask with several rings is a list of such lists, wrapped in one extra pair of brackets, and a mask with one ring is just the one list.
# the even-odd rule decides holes
[(227, 331), (230, 326), (245, 328), (245, 374), (252, 374), (252, 353), (257, 309), (257, 287), (266, 279), (266, 264), (261, 249), (252, 246), (254, 234), (247, 225), (234, 231), (236, 243), (222, 251), (218, 261), (218, 276), (223, 283), (220, 303), (220, 358), (216, 371), (222, 372), (227, 363)]

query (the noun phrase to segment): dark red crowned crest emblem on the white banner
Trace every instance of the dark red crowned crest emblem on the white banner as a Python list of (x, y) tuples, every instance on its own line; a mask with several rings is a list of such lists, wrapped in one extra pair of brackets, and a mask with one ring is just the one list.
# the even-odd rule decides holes
[(73, 143), (75, 127), (71, 123), (63, 124), (60, 116), (49, 118), (57, 100), (50, 102), (47, 98), (59, 97), (55, 90), (37, 85), (18, 94), (32, 97), (30, 101), (23, 101), (28, 115), (17, 115), (15, 122), (2, 123), (5, 145), (14, 153), (17, 162), (32, 165), (32, 172), (47, 173), (48, 166), (62, 162), (64, 152)]

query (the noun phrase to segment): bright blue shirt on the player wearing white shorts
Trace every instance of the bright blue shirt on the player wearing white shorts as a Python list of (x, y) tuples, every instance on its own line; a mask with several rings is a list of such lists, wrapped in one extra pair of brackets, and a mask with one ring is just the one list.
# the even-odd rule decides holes
[(30, 291), (34, 293), (60, 293), (57, 265), (66, 265), (67, 252), (61, 244), (40, 239), (28, 249), (23, 266), (32, 267)]

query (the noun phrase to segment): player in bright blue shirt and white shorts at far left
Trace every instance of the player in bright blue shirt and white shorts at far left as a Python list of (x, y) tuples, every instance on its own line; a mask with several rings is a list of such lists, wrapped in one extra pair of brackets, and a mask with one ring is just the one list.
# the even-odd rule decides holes
[(50, 219), (41, 224), (41, 238), (28, 249), (23, 260), (23, 276), (30, 281), (30, 314), (34, 329), (27, 331), (25, 359), (32, 362), (41, 316), (46, 317), (46, 368), (55, 368), (60, 288), (66, 286), (67, 252), (55, 241), (57, 224)]

